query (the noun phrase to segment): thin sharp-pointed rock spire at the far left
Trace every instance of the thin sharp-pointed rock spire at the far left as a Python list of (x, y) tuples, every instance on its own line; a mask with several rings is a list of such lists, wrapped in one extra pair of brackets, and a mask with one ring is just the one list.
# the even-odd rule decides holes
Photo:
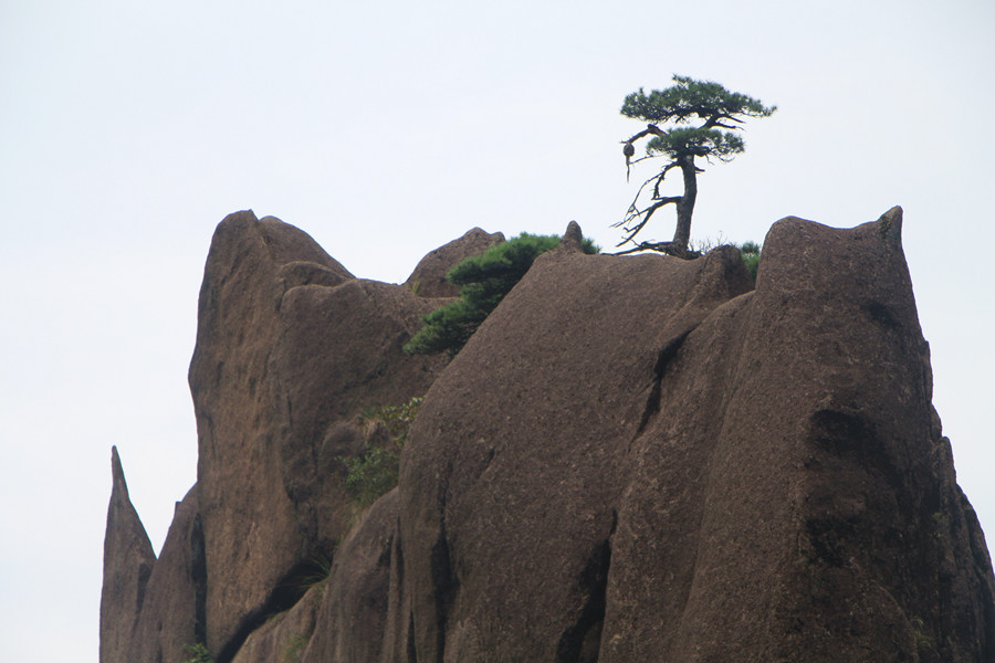
[(113, 487), (104, 533), (104, 586), (101, 590), (101, 663), (126, 663), (128, 643), (156, 564), (148, 535), (128, 497), (117, 448), (111, 449)]

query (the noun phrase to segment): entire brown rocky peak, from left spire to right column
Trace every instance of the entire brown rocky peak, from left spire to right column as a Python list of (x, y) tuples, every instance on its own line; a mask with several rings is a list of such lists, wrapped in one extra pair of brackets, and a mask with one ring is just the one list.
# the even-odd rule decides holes
[[(434, 303), (230, 217), (198, 485), (143, 585), (115, 465), (102, 663), (156, 661), (128, 649), (153, 621), (217, 663), (995, 661), (901, 222), (778, 221), (755, 290), (731, 248), (585, 255), (572, 224), (444, 366), (400, 351)], [(354, 415), (426, 392), (400, 485), (349, 528)]]

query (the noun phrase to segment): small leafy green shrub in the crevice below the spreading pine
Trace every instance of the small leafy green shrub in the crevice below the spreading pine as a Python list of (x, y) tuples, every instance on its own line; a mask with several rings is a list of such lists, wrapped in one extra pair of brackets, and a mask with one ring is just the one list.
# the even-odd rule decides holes
[(369, 506), (397, 485), (400, 452), (422, 400), (416, 397), (402, 406), (378, 408), (360, 415), (366, 421), (384, 422), (391, 440), (386, 446), (373, 445), (363, 455), (343, 459), (346, 491), (356, 506)]

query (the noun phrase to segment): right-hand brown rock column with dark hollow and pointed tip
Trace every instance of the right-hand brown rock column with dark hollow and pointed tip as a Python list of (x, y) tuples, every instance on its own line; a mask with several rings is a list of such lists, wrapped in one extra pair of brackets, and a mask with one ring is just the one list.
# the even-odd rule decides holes
[[(881, 230), (778, 222), (756, 292), (668, 362), (630, 451), (600, 661), (992, 651), (991, 564), (971, 561), (904, 257)], [(938, 537), (942, 503), (960, 526)], [(956, 607), (954, 578), (971, 587)]]

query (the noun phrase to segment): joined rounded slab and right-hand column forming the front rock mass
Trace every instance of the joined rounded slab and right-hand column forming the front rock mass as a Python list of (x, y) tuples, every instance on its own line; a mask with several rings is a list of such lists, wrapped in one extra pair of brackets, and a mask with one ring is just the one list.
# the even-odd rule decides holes
[(537, 260), (411, 430), (395, 654), (992, 660), (900, 227), (785, 219), (745, 294), (729, 249)]

